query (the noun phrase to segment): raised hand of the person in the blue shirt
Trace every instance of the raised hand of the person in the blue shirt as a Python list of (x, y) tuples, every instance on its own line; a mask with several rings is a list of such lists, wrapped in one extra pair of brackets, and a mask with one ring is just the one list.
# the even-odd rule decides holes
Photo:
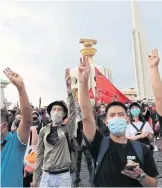
[(17, 87), (18, 90), (24, 88), (23, 79), (21, 78), (21, 76), (19, 74), (12, 71), (8, 67), (3, 71), (3, 73), (11, 81), (11, 83), (13, 83)]

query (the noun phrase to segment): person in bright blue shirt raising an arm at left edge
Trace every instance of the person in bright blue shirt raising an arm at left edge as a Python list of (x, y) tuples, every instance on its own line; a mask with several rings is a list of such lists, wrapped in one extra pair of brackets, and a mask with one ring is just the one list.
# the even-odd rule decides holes
[(7, 113), (1, 109), (1, 186), (23, 187), (22, 169), (30, 134), (31, 107), (22, 77), (10, 68), (3, 72), (18, 90), (22, 119), (17, 132), (8, 132)]

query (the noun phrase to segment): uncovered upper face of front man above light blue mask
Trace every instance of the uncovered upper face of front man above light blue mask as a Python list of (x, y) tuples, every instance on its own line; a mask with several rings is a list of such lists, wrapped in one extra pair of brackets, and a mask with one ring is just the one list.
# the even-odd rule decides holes
[(116, 118), (116, 117), (128, 120), (126, 111), (121, 106), (112, 106), (109, 108), (107, 115), (106, 115), (106, 122), (108, 123), (109, 120)]

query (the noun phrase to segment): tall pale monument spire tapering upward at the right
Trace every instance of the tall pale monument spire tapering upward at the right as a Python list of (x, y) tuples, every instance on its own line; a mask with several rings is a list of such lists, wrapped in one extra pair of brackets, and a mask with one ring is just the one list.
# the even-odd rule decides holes
[(137, 96), (140, 99), (152, 98), (153, 91), (150, 82), (148, 59), (148, 44), (136, 0), (131, 1), (133, 22), (133, 54), (136, 77)]

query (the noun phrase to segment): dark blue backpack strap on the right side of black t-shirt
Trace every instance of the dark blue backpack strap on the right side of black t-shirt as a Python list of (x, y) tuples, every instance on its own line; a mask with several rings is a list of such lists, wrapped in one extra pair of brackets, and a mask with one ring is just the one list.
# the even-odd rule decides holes
[(142, 145), (140, 142), (134, 141), (134, 140), (130, 140), (131, 144), (141, 162), (142, 168), (144, 167), (144, 155), (143, 155), (143, 149), (142, 149)]

